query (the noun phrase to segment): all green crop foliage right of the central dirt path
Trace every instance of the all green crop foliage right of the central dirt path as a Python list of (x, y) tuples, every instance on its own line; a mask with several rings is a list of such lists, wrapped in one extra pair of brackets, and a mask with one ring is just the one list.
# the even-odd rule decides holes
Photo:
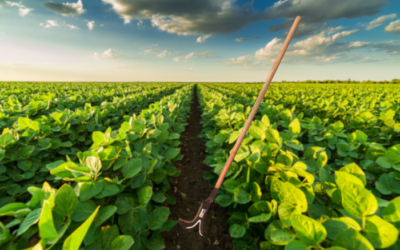
[[(202, 136), (207, 140), (205, 163), (212, 168), (205, 178), (214, 182), (254, 102), (254, 98), (245, 98), (242, 86), (229, 88), (200, 85), (198, 91), (203, 109)], [(307, 93), (317, 95), (325, 90), (313, 88)], [(399, 247), (400, 198), (396, 196), (400, 194), (400, 145), (394, 127), (398, 124), (397, 100), (389, 100), (389, 105), (379, 99), (374, 106), (368, 99), (361, 102), (358, 95), (366, 93), (348, 88), (349, 101), (344, 108), (361, 112), (347, 114), (351, 119), (343, 120), (329, 113), (318, 117), (311, 103), (284, 103), (297, 98), (290, 97), (294, 90), (288, 89), (280, 90), (285, 97), (268, 96), (261, 104), (216, 198), (218, 204), (229, 207), (234, 247)], [(376, 92), (380, 90), (378, 87)], [(383, 92), (390, 95), (387, 90)], [(346, 100), (335, 99), (333, 94), (307, 95), (314, 105), (322, 98), (322, 107), (329, 99), (331, 103)], [(374, 92), (370, 96), (379, 95)], [(351, 100), (356, 99), (352, 106)], [(363, 112), (379, 117), (373, 124), (362, 123)]]

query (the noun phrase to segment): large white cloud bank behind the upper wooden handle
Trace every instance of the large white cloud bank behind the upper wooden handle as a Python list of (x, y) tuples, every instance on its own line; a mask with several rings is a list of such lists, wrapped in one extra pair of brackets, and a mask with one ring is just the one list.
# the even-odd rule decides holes
[[(289, 46), (284, 62), (293, 64), (325, 64), (336, 62), (365, 62), (376, 61), (376, 58), (361, 56), (362, 50), (379, 51), (388, 54), (381, 59), (388, 59), (390, 56), (399, 54), (400, 44), (397, 41), (389, 42), (346, 42), (342, 38), (356, 33), (358, 30), (342, 31), (329, 35), (329, 31), (321, 32), (307, 39), (300, 40)], [(275, 61), (283, 39), (274, 38), (264, 48), (255, 52), (254, 55), (245, 55), (238, 58), (225, 60), (229, 66), (265, 66)]]

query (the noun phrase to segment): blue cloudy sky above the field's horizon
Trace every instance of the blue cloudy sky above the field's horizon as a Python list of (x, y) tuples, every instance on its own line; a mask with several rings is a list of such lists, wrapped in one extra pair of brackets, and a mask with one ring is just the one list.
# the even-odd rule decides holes
[(0, 0), (0, 81), (400, 78), (399, 0)]

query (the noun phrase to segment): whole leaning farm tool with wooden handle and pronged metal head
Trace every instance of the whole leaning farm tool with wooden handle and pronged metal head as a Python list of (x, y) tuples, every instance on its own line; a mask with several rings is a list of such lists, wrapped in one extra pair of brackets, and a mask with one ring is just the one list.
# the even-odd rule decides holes
[(214, 199), (217, 196), (218, 190), (221, 187), (222, 182), (224, 181), (225, 175), (228, 172), (229, 167), (231, 166), (231, 163), (232, 163), (233, 159), (235, 158), (240, 145), (242, 144), (242, 141), (247, 133), (247, 130), (249, 129), (250, 124), (251, 124), (254, 116), (256, 115), (257, 109), (260, 106), (261, 101), (263, 100), (265, 93), (268, 90), (269, 85), (271, 84), (272, 78), (274, 77), (275, 72), (278, 69), (278, 66), (282, 61), (282, 58), (286, 52), (287, 47), (289, 46), (290, 41), (293, 38), (293, 35), (297, 29), (297, 26), (300, 23), (300, 20), (301, 20), (300, 16), (296, 17), (296, 19), (292, 25), (292, 28), (290, 29), (290, 31), (286, 37), (286, 40), (283, 43), (281, 50), (279, 51), (279, 54), (275, 60), (275, 63), (272, 66), (267, 79), (265, 80), (264, 86), (261, 89), (261, 92), (253, 106), (253, 109), (251, 110), (250, 115), (247, 118), (247, 121), (243, 126), (243, 129), (235, 143), (235, 146), (233, 147), (231, 154), (229, 155), (229, 158), (226, 161), (226, 164), (221, 172), (221, 175), (219, 176), (218, 181), (215, 184), (215, 187), (212, 190), (210, 196), (205, 201), (203, 201), (203, 203), (201, 203), (200, 208), (197, 211), (197, 214), (192, 221), (182, 220), (181, 218), (179, 218), (179, 225), (181, 227), (189, 229), (189, 228), (194, 228), (195, 226), (197, 226), (197, 224), (199, 224), (199, 233), (201, 236), (203, 236), (203, 227), (204, 227), (204, 221), (205, 221), (207, 211), (209, 210), (211, 204), (214, 202)]

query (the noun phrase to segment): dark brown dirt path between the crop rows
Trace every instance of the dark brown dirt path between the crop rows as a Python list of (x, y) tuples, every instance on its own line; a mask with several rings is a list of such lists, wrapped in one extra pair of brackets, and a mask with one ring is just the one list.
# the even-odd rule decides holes
[[(185, 138), (181, 140), (182, 160), (174, 162), (175, 167), (181, 170), (177, 178), (170, 178), (171, 192), (174, 192), (176, 204), (169, 205), (170, 218), (178, 220), (192, 220), (202, 201), (204, 201), (213, 187), (203, 179), (203, 175), (209, 170), (204, 164), (206, 158), (205, 143), (202, 138), (197, 137), (202, 130), (200, 124), (201, 111), (197, 98), (197, 87), (191, 104), (191, 115), (188, 119), (189, 125), (183, 133)], [(181, 195), (183, 193), (183, 195)], [(183, 199), (182, 196), (186, 198)], [(222, 250), (233, 249), (232, 240), (229, 235), (229, 216), (226, 209), (217, 204), (212, 204), (207, 212), (204, 225), (204, 236), (199, 235), (199, 227), (183, 229), (176, 225), (170, 232), (164, 232), (165, 246), (167, 250)]]

